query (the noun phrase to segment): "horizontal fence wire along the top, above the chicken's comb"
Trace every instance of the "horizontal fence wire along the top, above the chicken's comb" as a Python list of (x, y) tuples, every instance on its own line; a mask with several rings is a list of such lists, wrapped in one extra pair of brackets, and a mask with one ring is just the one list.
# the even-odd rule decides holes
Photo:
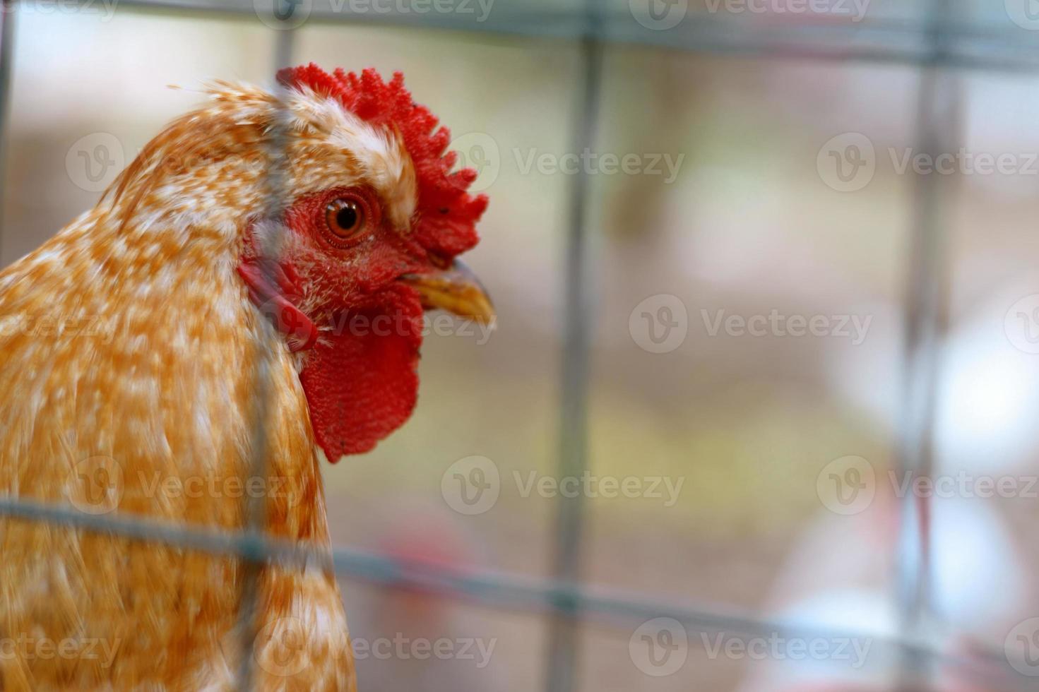
[[(20, 0), (31, 4), (34, 0)], [(285, 0), (275, 0), (283, 2)], [(299, 0), (297, 0), (298, 2)], [(860, 22), (819, 21), (802, 16), (765, 22), (752, 14), (689, 10), (675, 27), (655, 30), (641, 24), (628, 3), (596, 12), (592, 18), (576, 4), (551, 8), (521, 2), (492, 3), (482, 16), (476, 0), (467, 0), (473, 12), (419, 12), (396, 0), (314, 0), (296, 8), (305, 22), (350, 22), (361, 25), (421, 27), (531, 38), (592, 37), (606, 44), (652, 46), (693, 52), (756, 57), (837, 61), (943, 64), (963, 69), (1034, 71), (1039, 69), (1039, 32), (1014, 25), (996, 15), (978, 21), (934, 23), (925, 18), (868, 17)], [(239, 18), (259, 17), (255, 0), (118, 0), (118, 8), (158, 10), (177, 16), (205, 14)], [(998, 3), (1002, 4), (1002, 3)], [(460, 2), (456, 5), (461, 6)], [(352, 9), (351, 9), (352, 8)], [(361, 9), (358, 9), (361, 8)], [(482, 21), (481, 21), (482, 17)], [(269, 18), (268, 18), (269, 19)], [(303, 23), (305, 25), (305, 22)], [(1039, 27), (1037, 27), (1039, 28)], [(936, 53), (935, 33), (943, 50)]]

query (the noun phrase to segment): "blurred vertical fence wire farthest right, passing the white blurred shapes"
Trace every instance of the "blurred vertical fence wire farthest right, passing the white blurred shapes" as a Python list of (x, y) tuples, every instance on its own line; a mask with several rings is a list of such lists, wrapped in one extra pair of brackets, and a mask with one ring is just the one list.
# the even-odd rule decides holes
[[(944, 26), (953, 20), (955, 0), (931, 3), (930, 62), (922, 68), (916, 104), (916, 145), (937, 157), (956, 149), (960, 137), (959, 77), (942, 66), (948, 47)], [(949, 257), (944, 241), (943, 201), (955, 176), (917, 176), (913, 229), (908, 256), (905, 336), (903, 344), (903, 404), (899, 471), (928, 478), (934, 470), (934, 419), (940, 351), (949, 323)], [(909, 641), (927, 637), (933, 624), (931, 505), (925, 497), (907, 494), (901, 501), (898, 555), (898, 601), (903, 636)], [(927, 686), (933, 677), (929, 661), (916, 649), (905, 649), (900, 689)]]

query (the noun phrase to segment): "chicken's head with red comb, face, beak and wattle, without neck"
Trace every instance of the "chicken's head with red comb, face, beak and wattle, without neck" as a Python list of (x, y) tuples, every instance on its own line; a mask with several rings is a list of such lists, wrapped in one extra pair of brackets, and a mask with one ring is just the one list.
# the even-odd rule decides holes
[[(293, 194), (274, 223), (251, 227), (239, 273), (301, 352), (316, 441), (335, 462), (411, 414), (424, 310), (492, 319), (456, 260), (476, 245), (487, 199), (465, 191), (475, 171), (451, 172), (449, 131), (412, 102), (400, 73), (385, 82), (374, 70), (310, 64), (278, 81)], [(260, 247), (275, 236), (273, 252)]]

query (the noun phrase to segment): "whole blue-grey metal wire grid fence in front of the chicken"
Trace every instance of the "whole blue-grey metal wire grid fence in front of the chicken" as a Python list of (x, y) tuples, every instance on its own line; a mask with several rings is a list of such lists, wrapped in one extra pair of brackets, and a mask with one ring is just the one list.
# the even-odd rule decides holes
[[(282, 2), (283, 0), (274, 0)], [(681, 0), (675, 0), (681, 1)], [(6, 134), (6, 113), (10, 109), (9, 84), (12, 50), (17, 41), (17, 2), (3, 0), (0, 12), (0, 156)], [(254, 0), (119, 0), (119, 5), (140, 12), (214, 16), (254, 16), (262, 4)], [(15, 11), (9, 11), (15, 7)], [(959, 84), (961, 69), (1031, 71), (1039, 66), (1039, 51), (1028, 41), (998, 24), (963, 19), (953, 0), (933, 0), (918, 20), (877, 20), (856, 27), (781, 26), (763, 28), (753, 23), (737, 23), (713, 15), (697, 15), (675, 31), (654, 31), (632, 21), (631, 14), (610, 3), (591, 0), (570, 8), (501, 6), (476, 23), (453, 15), (418, 15), (383, 11), (350, 11), (340, 3), (289, 0), (285, 30), (277, 31), (273, 66), (293, 63), (294, 31), (287, 23), (293, 11), (308, 11), (311, 21), (353, 23), (372, 26), (421, 27), (423, 29), (480, 31), (491, 34), (580, 42), (582, 83), (574, 92), (579, 99), (572, 126), (574, 151), (594, 145), (604, 53), (612, 46), (644, 45), (722, 55), (774, 56), (818, 60), (874, 61), (917, 65), (921, 79), (916, 104), (916, 138), (920, 151), (950, 151), (959, 132)], [(298, 60), (296, 60), (298, 61)], [(273, 199), (281, 198), (277, 171), (269, 179)], [(953, 182), (945, 177), (922, 177), (913, 211), (913, 237), (906, 261), (907, 302), (904, 307), (903, 411), (899, 432), (899, 464), (904, 471), (927, 476), (933, 463), (931, 436), (934, 426), (934, 398), (938, 376), (936, 357), (948, 321), (949, 277), (941, 218), (942, 198)], [(587, 175), (575, 178), (569, 192), (568, 238), (563, 263), (565, 287), (565, 337), (560, 395), (559, 473), (578, 476), (587, 467), (588, 351), (592, 324), (588, 310), (588, 273), (591, 260), (587, 239)], [(0, 234), (2, 237), (2, 234)], [(261, 350), (266, 348), (259, 346)], [(260, 357), (261, 364), (266, 358)], [(266, 400), (266, 373), (256, 373), (256, 391)], [(260, 407), (255, 436), (263, 449), (265, 411)], [(259, 459), (264, 454), (258, 455)], [(262, 468), (252, 470), (265, 477)], [(398, 558), (337, 548), (288, 542), (265, 535), (264, 503), (246, 507), (245, 528), (238, 533), (214, 531), (202, 526), (183, 526), (154, 520), (110, 513), (90, 515), (75, 509), (41, 504), (24, 499), (0, 499), (0, 514), (29, 522), (47, 522), (85, 531), (109, 533), (131, 540), (159, 542), (184, 550), (236, 556), (249, 565), (244, 581), (240, 621), (243, 646), (252, 644), (252, 614), (256, 574), (260, 566), (278, 563), (297, 567), (318, 565), (334, 569), (344, 578), (393, 588), (420, 588), (442, 597), (457, 598), (492, 608), (552, 616), (548, 639), (545, 689), (571, 692), (578, 689), (579, 627), (582, 622), (631, 628), (656, 617), (672, 617), (690, 632), (741, 635), (864, 638), (864, 633), (823, 632), (748, 614), (726, 612), (699, 604), (655, 603), (638, 594), (604, 591), (582, 583), (581, 545), (583, 507), (580, 494), (560, 499), (556, 523), (554, 579), (530, 580), (514, 575), (480, 570), (455, 570)], [(970, 658), (951, 656), (940, 637), (925, 626), (930, 583), (930, 509), (926, 500), (909, 499), (903, 507), (899, 541), (899, 602), (903, 615), (902, 635), (878, 639), (870, 663), (898, 666), (904, 689), (926, 687), (936, 671), (955, 669), (980, 685), (1001, 689), (1027, 689), (1009, 670), (1003, 650), (975, 646)], [(242, 657), (241, 689), (251, 689), (251, 656)]]

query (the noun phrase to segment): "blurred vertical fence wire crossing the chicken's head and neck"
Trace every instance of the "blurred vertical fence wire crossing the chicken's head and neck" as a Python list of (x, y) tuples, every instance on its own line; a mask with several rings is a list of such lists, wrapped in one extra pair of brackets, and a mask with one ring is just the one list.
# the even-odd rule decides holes
[[(290, 6), (291, 10), (295, 5)], [(279, 21), (283, 23), (289, 18)], [(292, 59), (292, 46), (294, 32), (288, 26), (282, 26), (275, 31), (273, 68), (276, 72), (282, 68), (289, 66)], [(279, 88), (275, 86), (275, 89)], [(284, 101), (279, 101), (284, 103)], [(268, 199), (265, 206), (265, 217), (281, 218), (284, 205), (287, 199), (287, 186), (285, 183), (285, 166), (287, 165), (287, 141), (285, 125), (288, 117), (285, 113), (275, 113), (275, 122), (271, 128), (270, 141), (268, 142), (268, 155), (270, 165), (266, 175), (266, 187)], [(275, 227), (281, 228), (281, 227)], [(261, 240), (261, 270), (266, 278), (273, 283), (273, 264), (277, 261), (277, 254), (281, 250), (281, 238), (264, 238)], [(249, 482), (254, 478), (260, 479), (261, 487), (266, 487), (269, 483), (267, 469), (267, 454), (269, 452), (267, 426), (270, 423), (271, 406), (270, 402), (274, 393), (271, 389), (270, 369), (273, 363), (272, 344), (267, 331), (263, 331), (264, 337), (260, 343), (256, 344), (256, 371), (254, 373), (252, 392), (256, 401), (255, 420), (252, 423), (252, 465), (249, 471)], [(246, 556), (242, 562), (242, 591), (238, 606), (238, 628), (241, 633), (240, 656), (238, 670), (238, 689), (248, 692), (254, 688), (254, 660), (257, 636), (260, 631), (260, 623), (257, 617), (260, 614), (259, 608), (259, 581), (260, 573), (264, 568), (262, 557), (262, 540), (267, 525), (267, 494), (246, 494), (244, 498), (245, 530), (250, 534), (256, 542), (255, 554)]]

